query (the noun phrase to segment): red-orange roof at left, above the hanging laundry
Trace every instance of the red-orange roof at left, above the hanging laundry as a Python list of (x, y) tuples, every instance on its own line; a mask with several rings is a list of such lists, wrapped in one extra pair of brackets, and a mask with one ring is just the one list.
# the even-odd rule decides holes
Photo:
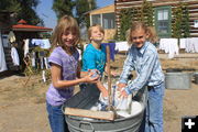
[(36, 26), (26, 24), (26, 21), (23, 19), (18, 22), (18, 24), (12, 25), (13, 31), (29, 31), (29, 32), (51, 32), (53, 29), (44, 28), (44, 26)]

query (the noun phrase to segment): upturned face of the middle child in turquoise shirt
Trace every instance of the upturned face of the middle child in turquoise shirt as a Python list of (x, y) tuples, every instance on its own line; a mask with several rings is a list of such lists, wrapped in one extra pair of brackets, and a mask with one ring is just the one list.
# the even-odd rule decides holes
[(98, 26), (92, 28), (90, 40), (97, 42), (101, 42), (103, 40), (103, 33), (100, 31)]

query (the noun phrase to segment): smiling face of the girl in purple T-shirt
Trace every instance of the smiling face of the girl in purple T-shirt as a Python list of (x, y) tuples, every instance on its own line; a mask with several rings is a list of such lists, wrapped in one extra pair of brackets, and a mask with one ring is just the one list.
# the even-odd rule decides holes
[(62, 35), (62, 42), (64, 45), (72, 47), (74, 46), (76, 41), (76, 33), (72, 32), (72, 31), (66, 31), (63, 35)]

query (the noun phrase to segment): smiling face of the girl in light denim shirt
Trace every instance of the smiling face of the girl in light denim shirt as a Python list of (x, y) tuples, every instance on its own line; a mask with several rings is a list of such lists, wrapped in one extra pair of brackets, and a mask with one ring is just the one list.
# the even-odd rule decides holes
[(146, 41), (146, 33), (145, 30), (139, 29), (131, 32), (131, 41), (136, 47), (142, 47), (144, 45), (144, 42)]

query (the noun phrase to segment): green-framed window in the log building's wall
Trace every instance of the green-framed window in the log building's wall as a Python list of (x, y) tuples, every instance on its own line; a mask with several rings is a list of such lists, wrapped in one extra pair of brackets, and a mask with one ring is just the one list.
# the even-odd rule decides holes
[(170, 36), (170, 8), (161, 7), (155, 9), (155, 26), (160, 37)]

